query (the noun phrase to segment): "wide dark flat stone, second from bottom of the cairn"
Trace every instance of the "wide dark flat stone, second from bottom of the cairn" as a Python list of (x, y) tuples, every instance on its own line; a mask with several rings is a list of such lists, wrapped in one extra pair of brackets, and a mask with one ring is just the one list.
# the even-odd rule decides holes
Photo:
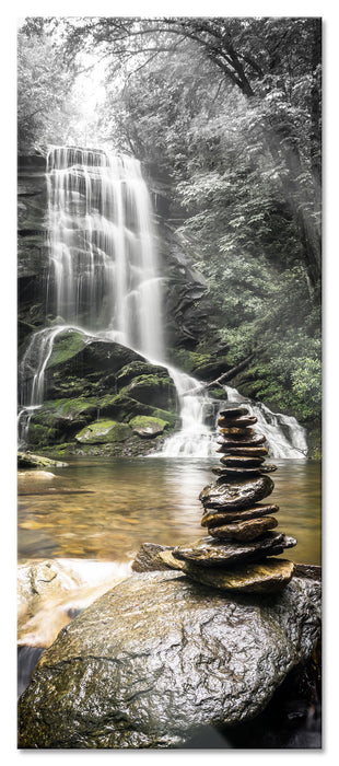
[(237, 561), (261, 560), (266, 556), (279, 556), (284, 548), (296, 545), (294, 537), (283, 533), (267, 532), (265, 536), (252, 543), (221, 543), (213, 537), (201, 537), (190, 546), (179, 545), (173, 548), (174, 558), (192, 561), (201, 567), (230, 566)]

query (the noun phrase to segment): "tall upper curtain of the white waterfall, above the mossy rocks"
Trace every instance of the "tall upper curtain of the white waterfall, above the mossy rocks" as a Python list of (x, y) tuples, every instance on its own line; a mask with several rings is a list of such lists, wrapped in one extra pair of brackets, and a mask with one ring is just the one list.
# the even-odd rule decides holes
[(160, 361), (160, 275), (140, 163), (57, 147), (47, 184), (55, 314)]

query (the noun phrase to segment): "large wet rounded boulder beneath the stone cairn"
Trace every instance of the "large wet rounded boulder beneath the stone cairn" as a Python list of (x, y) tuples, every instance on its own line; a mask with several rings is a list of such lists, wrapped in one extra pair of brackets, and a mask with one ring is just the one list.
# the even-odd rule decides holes
[(175, 747), (254, 718), (313, 652), (319, 584), (233, 595), (135, 573), (61, 630), (20, 700), (22, 748)]

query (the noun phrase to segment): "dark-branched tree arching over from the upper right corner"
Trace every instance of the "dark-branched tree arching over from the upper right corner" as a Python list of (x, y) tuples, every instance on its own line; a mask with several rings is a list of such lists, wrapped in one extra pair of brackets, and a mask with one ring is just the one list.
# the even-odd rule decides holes
[[(84, 18), (62, 21), (73, 60), (95, 47), (125, 74), (164, 53), (204, 58), (215, 83), (227, 81), (248, 100), (265, 150), (280, 167), (284, 208), (299, 231), (309, 289), (320, 300), (320, 55), (319, 19)], [(190, 47), (189, 47), (190, 46)]]

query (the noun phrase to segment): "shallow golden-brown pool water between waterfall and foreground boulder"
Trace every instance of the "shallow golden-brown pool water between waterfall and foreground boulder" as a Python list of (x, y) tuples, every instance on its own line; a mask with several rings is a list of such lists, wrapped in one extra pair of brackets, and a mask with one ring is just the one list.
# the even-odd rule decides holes
[[(297, 539), (287, 557), (319, 565), (320, 465), (301, 460), (274, 464), (269, 502), (280, 507), (277, 531)], [(178, 545), (201, 537), (199, 492), (214, 480), (213, 465), (212, 459), (79, 456), (54, 468), (54, 476), (50, 471), (39, 476), (20, 472), (19, 561), (131, 561), (144, 542)]]

